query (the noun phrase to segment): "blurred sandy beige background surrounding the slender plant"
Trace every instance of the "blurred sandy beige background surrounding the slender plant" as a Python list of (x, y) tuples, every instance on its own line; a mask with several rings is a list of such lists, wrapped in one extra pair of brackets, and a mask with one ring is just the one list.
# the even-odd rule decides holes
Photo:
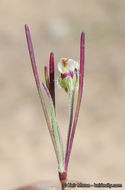
[[(0, 1), (0, 189), (58, 180), (57, 162), (27, 50), (31, 30), (41, 80), (49, 53), (79, 61), (86, 34), (85, 84), (69, 179), (124, 183), (125, 1)], [(58, 72), (56, 71), (56, 77)], [(56, 89), (63, 139), (68, 97)]]

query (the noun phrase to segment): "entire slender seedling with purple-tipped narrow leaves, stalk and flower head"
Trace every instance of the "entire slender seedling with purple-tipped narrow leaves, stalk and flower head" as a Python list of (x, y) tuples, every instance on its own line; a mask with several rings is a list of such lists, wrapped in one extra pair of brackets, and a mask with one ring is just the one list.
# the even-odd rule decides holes
[[(31, 35), (29, 31), (29, 27), (25, 25), (25, 32), (28, 44), (28, 50), (31, 60), (31, 65), (34, 73), (34, 78), (36, 81), (36, 86), (38, 90), (38, 94), (40, 97), (40, 101), (42, 104), (43, 112), (45, 115), (45, 119), (47, 122), (48, 130), (51, 136), (51, 140), (54, 146), (57, 163), (58, 163), (58, 174), (59, 179), (62, 185), (62, 189), (64, 189), (63, 184), (67, 180), (67, 172), (69, 159), (71, 155), (74, 135), (76, 131), (76, 126), (79, 117), (79, 111), (81, 106), (81, 99), (83, 94), (83, 79), (84, 79), (84, 62), (85, 62), (85, 34), (81, 34), (80, 40), (80, 68), (78, 62), (62, 58), (58, 63), (58, 70), (60, 72), (60, 76), (58, 77), (58, 85), (63, 88), (66, 93), (69, 95), (70, 102), (70, 118), (69, 118), (69, 127), (67, 134), (67, 143), (65, 155), (63, 151), (63, 142), (60, 127), (56, 118), (55, 112), (55, 72), (54, 72), (54, 54), (50, 53), (49, 60), (49, 69), (47, 66), (44, 67), (44, 75), (45, 75), (45, 83), (40, 84), (39, 75), (36, 66), (36, 60), (34, 55), (34, 49), (32, 45)], [(49, 108), (51, 114), (49, 115), (48, 109), (46, 106), (46, 101), (43, 95), (43, 90), (45, 91), (47, 98), (49, 100)], [(76, 110), (74, 114), (74, 99), (75, 94), (78, 91)]]

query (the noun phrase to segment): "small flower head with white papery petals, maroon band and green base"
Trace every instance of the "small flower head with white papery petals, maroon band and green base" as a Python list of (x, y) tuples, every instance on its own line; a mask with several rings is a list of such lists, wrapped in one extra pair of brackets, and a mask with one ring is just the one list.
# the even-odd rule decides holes
[(57, 68), (60, 72), (57, 80), (59, 87), (64, 88), (68, 94), (77, 91), (79, 86), (79, 63), (73, 59), (61, 58)]

